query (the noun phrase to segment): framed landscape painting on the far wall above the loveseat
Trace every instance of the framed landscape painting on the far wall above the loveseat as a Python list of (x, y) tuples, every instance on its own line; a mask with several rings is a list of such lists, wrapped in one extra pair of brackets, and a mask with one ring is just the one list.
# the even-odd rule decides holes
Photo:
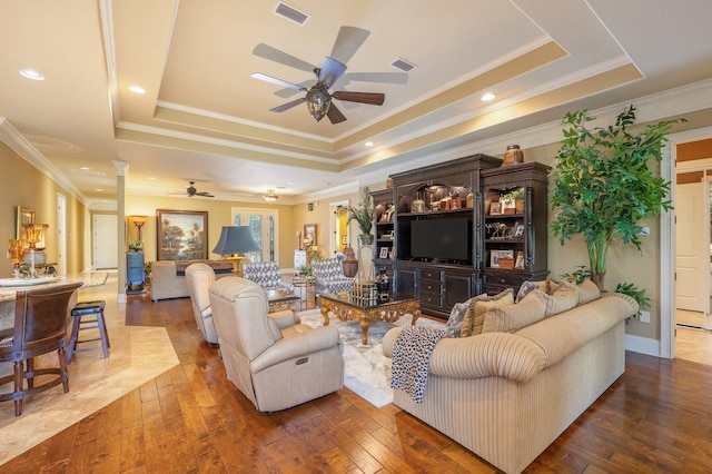
[(208, 258), (208, 213), (204, 210), (156, 210), (158, 260)]

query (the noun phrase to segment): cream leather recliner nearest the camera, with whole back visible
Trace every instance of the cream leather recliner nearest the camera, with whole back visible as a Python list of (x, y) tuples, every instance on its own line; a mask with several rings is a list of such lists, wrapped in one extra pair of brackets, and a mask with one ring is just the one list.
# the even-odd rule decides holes
[(289, 408), (343, 387), (336, 328), (298, 324), (293, 312), (268, 315), (265, 289), (245, 278), (220, 278), (209, 294), (227, 377), (258, 411)]

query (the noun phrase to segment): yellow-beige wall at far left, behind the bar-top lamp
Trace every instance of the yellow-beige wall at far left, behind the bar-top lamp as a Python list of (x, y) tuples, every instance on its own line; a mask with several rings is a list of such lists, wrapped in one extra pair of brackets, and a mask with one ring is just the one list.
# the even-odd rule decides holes
[(89, 267), (85, 261), (87, 207), (77, 200), (67, 189), (57, 185), (48, 176), (39, 171), (4, 144), (0, 142), (0, 236), (2, 260), (0, 260), (0, 278), (12, 276), (12, 267), (4, 258), (8, 239), (16, 236), (17, 207), (34, 210), (37, 224), (49, 224), (47, 237), (48, 261), (57, 261), (57, 195), (67, 198), (67, 273), (79, 273)]

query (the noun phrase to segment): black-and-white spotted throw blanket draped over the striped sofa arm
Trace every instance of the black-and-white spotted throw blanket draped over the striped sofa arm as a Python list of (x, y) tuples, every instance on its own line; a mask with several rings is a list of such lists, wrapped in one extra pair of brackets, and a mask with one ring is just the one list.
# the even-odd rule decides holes
[(447, 329), (404, 327), (393, 349), (390, 388), (404, 391), (415, 403), (423, 403), (431, 354), (444, 337), (449, 337)]

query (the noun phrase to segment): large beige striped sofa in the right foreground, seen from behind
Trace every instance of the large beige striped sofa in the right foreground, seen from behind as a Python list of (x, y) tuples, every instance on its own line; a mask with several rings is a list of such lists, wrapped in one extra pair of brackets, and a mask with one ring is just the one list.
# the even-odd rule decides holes
[[(506, 473), (520, 473), (625, 371), (625, 318), (639, 307), (620, 294), (516, 333), (439, 340), (424, 403), (399, 389), (394, 403)], [(384, 337), (393, 355), (400, 328)]]

